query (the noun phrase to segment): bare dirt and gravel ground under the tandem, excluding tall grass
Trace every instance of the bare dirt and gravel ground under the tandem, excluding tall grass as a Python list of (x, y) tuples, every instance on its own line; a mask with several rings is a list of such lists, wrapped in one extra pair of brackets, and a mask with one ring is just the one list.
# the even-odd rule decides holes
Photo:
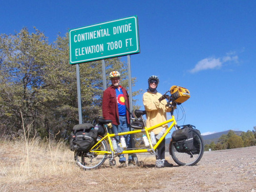
[(256, 146), (205, 152), (195, 166), (177, 166), (166, 157), (174, 167), (155, 168), (154, 156), (140, 167), (110, 167), (106, 160), (105, 166), (84, 171), (74, 164), (69, 173), (0, 183), (0, 191), (256, 192)]

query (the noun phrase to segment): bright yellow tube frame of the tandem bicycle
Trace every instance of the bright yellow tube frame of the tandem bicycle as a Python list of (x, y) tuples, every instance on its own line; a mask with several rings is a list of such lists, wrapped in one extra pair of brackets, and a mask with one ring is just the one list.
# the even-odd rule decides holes
[[(171, 113), (172, 114), (172, 113)], [(165, 133), (162, 135), (162, 137), (157, 141), (157, 143), (153, 146), (152, 141), (151, 141), (151, 137), (150, 137), (150, 131), (164, 125), (167, 123), (172, 122), (172, 124), (168, 127), (168, 129), (165, 131)], [(134, 154), (134, 153), (156, 153), (156, 149), (159, 146), (159, 144), (163, 141), (163, 139), (166, 137), (166, 135), (170, 132), (170, 130), (175, 126), (176, 127), (177, 122), (176, 119), (174, 117), (174, 115), (172, 114), (172, 118), (170, 118), (169, 120), (166, 120), (162, 123), (159, 123), (157, 125), (151, 126), (151, 127), (145, 127), (145, 129), (142, 130), (135, 130), (135, 131), (129, 131), (129, 132), (122, 132), (122, 133), (118, 133), (118, 134), (110, 134), (107, 130), (106, 135), (100, 140), (98, 141), (92, 148), (96, 147), (100, 142), (102, 142), (104, 139), (108, 139), (109, 143), (110, 143), (110, 148), (111, 151), (93, 151), (90, 150), (91, 153), (96, 153), (96, 154)], [(136, 134), (136, 133), (146, 133), (146, 137), (150, 143), (150, 148), (145, 148), (145, 149), (140, 149), (140, 150), (129, 150), (129, 148), (127, 148), (127, 150), (122, 151), (122, 153), (116, 153), (113, 149), (113, 144), (112, 144), (112, 137), (115, 136), (122, 136), (122, 135), (131, 135), (131, 134)]]

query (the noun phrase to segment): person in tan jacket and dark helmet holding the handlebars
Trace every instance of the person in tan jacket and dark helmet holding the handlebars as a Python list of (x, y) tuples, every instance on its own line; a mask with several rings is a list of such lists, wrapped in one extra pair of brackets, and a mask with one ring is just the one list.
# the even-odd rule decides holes
[[(161, 122), (166, 121), (166, 112), (169, 112), (171, 109), (166, 108), (165, 97), (157, 92), (157, 86), (159, 84), (159, 79), (157, 76), (152, 75), (148, 78), (148, 89), (147, 92), (143, 94), (143, 104), (146, 110), (146, 126), (151, 127)], [(154, 129), (153, 132), (157, 136), (160, 131), (165, 127), (168, 128), (168, 125), (165, 124), (157, 129)], [(156, 151), (156, 167), (166, 167), (173, 166), (165, 160), (165, 139), (158, 146)]]

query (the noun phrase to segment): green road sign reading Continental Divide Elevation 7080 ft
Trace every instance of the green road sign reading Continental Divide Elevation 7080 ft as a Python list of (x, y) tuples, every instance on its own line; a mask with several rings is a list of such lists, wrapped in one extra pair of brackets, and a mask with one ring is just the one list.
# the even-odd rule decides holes
[(70, 64), (140, 52), (137, 16), (72, 29), (69, 38)]

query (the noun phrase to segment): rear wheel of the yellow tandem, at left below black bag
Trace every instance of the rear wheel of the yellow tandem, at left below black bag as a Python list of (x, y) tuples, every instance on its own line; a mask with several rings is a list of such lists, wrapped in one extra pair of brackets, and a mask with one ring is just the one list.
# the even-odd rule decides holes
[[(100, 136), (97, 137), (97, 142), (102, 138)], [(103, 140), (98, 145), (96, 145), (92, 150), (93, 151), (108, 151), (109, 145)], [(96, 169), (99, 168), (108, 157), (108, 154), (95, 154), (91, 152), (75, 152), (74, 158), (76, 164), (83, 168), (84, 170)]]

